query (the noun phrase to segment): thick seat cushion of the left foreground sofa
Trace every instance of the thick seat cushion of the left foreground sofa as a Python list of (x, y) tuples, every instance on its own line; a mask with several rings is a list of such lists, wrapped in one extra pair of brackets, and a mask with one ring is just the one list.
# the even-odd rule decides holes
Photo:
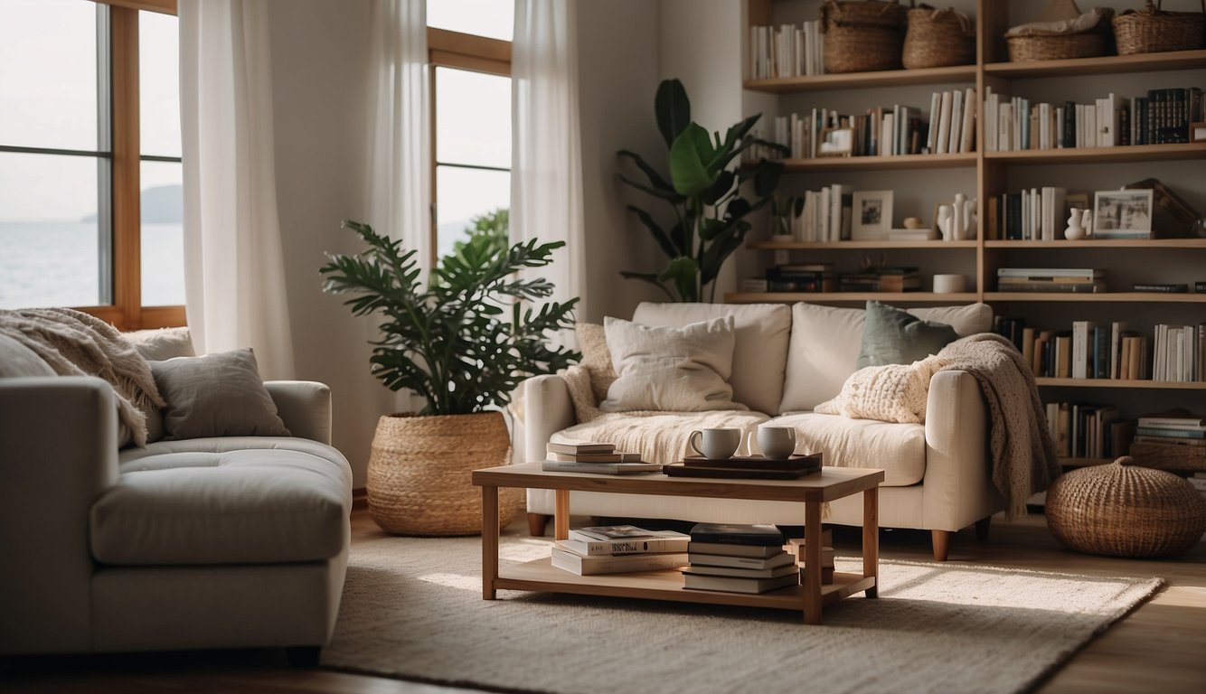
[(92, 507), (92, 551), (103, 564), (314, 561), (344, 546), (351, 470), (329, 446), (164, 441), (119, 460), (121, 478)]

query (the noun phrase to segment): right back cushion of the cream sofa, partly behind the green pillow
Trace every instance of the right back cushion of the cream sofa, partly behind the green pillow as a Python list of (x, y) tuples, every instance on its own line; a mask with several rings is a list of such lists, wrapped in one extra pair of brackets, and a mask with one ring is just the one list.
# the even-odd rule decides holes
[[(985, 304), (909, 308), (925, 320), (946, 323), (960, 337), (993, 328)], [(862, 308), (838, 308), (798, 302), (791, 307), (791, 348), (779, 412), (802, 412), (831, 400), (857, 370), (862, 351)]]

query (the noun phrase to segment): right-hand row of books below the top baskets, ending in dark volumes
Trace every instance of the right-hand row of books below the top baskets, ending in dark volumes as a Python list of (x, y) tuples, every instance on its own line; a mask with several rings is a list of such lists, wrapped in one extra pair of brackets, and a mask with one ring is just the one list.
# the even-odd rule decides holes
[(1199, 87), (1151, 89), (1128, 99), (1111, 93), (1093, 104), (1061, 106), (1008, 96), (985, 88), (984, 148), (1060, 149), (1189, 142), (1189, 127), (1202, 120)]

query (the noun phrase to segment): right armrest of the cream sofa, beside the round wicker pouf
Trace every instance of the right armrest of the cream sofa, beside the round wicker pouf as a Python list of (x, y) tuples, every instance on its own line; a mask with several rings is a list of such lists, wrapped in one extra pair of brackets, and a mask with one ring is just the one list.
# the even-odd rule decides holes
[(925, 412), (925, 527), (960, 530), (1003, 507), (993, 487), (988, 408), (976, 377), (938, 371)]

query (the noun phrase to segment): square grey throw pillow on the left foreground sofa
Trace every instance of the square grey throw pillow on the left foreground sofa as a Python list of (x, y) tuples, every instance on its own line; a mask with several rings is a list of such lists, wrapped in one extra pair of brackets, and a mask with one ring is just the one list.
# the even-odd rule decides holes
[(289, 436), (248, 348), (151, 361), (163, 410), (164, 440)]

